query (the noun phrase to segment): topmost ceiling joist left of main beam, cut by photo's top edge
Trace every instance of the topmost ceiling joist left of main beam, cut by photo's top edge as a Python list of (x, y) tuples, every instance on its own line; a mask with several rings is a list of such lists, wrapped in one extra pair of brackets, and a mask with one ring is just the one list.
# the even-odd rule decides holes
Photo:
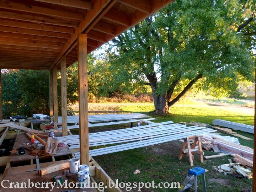
[(87, 1), (81, 1), (81, 0), (36, 0), (40, 2), (47, 2), (55, 5), (64, 5), (69, 7), (76, 7), (80, 9), (93, 9), (93, 4), (91, 2)]

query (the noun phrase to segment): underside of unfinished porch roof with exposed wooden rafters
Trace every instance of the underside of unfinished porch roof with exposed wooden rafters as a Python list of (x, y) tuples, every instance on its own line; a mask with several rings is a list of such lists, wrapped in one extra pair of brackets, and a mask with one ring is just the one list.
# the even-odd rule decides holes
[(0, 0), (0, 68), (60, 70), (77, 61), (77, 37), (94, 51), (173, 0)]

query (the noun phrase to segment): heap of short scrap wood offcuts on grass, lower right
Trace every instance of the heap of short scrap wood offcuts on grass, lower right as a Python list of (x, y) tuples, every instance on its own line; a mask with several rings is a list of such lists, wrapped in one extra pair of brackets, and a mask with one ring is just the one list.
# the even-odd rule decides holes
[(252, 178), (252, 169), (246, 168), (240, 165), (240, 162), (233, 163), (231, 159), (229, 159), (229, 164), (212, 166), (213, 170), (223, 173), (224, 175), (227, 174), (234, 174), (235, 177), (245, 177), (247, 179)]

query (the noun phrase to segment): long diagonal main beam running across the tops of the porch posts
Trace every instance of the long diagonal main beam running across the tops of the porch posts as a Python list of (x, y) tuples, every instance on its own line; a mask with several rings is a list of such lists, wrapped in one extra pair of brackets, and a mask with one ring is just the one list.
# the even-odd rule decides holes
[(76, 41), (78, 34), (82, 33), (86, 27), (90, 25), (90, 23), (100, 14), (100, 12), (111, 2), (111, 0), (95, 0), (94, 1), (94, 9), (88, 10), (85, 15), (85, 20), (82, 20), (79, 24), (79, 27), (75, 29), (75, 32), (71, 34), (70, 38), (66, 42), (63, 49), (59, 52), (58, 57), (55, 59), (54, 63), (50, 67), (50, 69), (53, 67), (54, 64), (56, 64), (59, 60), (59, 58), (65, 54), (66, 50), (69, 49), (69, 47)]

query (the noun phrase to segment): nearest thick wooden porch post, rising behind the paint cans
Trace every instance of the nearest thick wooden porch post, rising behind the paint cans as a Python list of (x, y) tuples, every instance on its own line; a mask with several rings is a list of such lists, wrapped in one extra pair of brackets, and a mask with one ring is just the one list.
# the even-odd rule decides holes
[(80, 164), (89, 165), (87, 35), (78, 34), (79, 138)]

